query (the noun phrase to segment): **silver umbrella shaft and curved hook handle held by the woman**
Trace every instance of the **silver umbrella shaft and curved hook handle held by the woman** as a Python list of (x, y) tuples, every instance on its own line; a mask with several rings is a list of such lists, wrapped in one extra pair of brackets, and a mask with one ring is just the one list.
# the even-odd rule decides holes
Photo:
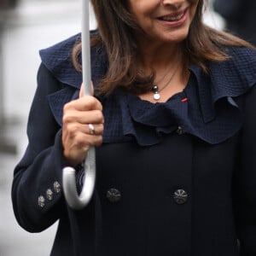
[[(84, 95), (91, 95), (89, 0), (82, 0), (82, 64)], [(84, 161), (84, 185), (80, 195), (76, 189), (75, 172), (73, 167), (65, 167), (62, 183), (67, 204), (73, 209), (79, 210), (90, 202), (95, 187), (96, 158), (94, 147), (89, 148)]]

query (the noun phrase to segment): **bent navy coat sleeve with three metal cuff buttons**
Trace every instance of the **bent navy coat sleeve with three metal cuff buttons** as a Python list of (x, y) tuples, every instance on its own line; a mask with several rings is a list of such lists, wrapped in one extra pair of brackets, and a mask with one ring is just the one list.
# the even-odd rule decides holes
[(61, 125), (56, 122), (47, 97), (63, 86), (41, 64), (27, 124), (28, 146), (15, 167), (12, 184), (15, 217), (30, 232), (48, 228), (65, 208), (61, 178), (66, 163), (62, 156)]

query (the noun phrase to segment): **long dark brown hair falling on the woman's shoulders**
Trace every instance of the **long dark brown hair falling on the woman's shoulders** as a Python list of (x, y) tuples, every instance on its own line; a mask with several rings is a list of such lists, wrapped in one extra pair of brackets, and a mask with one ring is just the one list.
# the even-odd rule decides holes
[[(224, 46), (253, 47), (240, 38), (205, 25), (202, 22), (205, 2), (199, 0), (189, 35), (182, 42), (184, 70), (189, 64), (197, 64), (207, 73), (207, 61), (225, 61), (229, 58)], [(99, 31), (91, 38), (91, 45), (103, 44), (108, 55), (108, 72), (99, 84), (100, 92), (109, 94), (119, 86), (137, 93), (148, 90), (154, 76), (145, 78), (137, 71), (137, 44), (132, 35), (140, 28), (129, 12), (129, 1), (91, 0), (91, 3)], [(81, 45), (77, 44), (73, 49), (73, 63), (78, 69), (80, 52)]]

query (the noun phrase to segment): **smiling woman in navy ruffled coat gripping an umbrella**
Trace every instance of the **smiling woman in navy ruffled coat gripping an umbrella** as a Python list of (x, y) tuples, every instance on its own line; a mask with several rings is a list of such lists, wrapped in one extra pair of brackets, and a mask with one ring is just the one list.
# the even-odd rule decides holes
[[(203, 25), (203, 0), (92, 4), (95, 96), (79, 92), (79, 36), (41, 51), (19, 224), (59, 220), (51, 255), (255, 255), (255, 49)], [(80, 189), (91, 145), (96, 189), (74, 211), (62, 168), (76, 167)]]

